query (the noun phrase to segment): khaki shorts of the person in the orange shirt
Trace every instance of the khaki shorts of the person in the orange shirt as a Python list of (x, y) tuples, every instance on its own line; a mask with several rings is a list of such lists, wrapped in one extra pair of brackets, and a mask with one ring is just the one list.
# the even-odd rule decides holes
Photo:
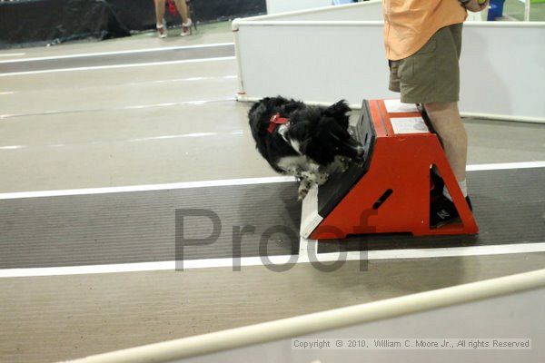
[(461, 24), (445, 26), (415, 54), (389, 61), (389, 88), (401, 92), (402, 103), (458, 102), (461, 28)]

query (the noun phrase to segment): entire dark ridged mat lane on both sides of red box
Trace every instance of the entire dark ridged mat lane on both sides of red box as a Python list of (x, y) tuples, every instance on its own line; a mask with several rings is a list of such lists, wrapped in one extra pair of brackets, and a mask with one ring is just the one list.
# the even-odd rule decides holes
[[(469, 172), (468, 185), (478, 236), (359, 236), (319, 252), (545, 241), (545, 168)], [(296, 195), (282, 182), (4, 200), (0, 269), (174, 260), (181, 250), (184, 260), (295, 254)]]

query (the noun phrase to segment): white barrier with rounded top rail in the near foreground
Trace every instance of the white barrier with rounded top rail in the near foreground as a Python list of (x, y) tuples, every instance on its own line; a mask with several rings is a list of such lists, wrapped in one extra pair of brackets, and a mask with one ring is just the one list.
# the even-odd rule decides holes
[[(543, 299), (545, 270), (537, 270), (119, 350), (74, 363), (538, 362), (545, 356)], [(328, 339), (331, 346), (294, 349), (295, 339)], [(338, 339), (343, 339), (343, 349), (333, 347)], [(363, 339), (367, 349), (361, 346)], [(374, 341), (384, 339), (401, 340), (401, 348), (377, 349)], [(449, 339), (451, 346), (423, 348), (416, 342), (419, 339), (435, 339), (438, 344)], [(520, 349), (494, 347), (494, 339), (502, 344), (518, 342)], [(350, 340), (359, 343), (351, 348)]]

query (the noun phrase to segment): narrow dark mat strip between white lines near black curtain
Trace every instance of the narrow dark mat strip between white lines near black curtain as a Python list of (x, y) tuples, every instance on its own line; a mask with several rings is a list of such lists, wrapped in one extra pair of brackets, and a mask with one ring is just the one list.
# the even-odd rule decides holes
[(85, 55), (74, 58), (29, 60), (0, 64), (0, 74), (46, 71), (60, 68), (97, 67), (117, 64), (144, 64), (234, 56), (234, 45), (224, 44), (199, 48), (168, 49), (157, 52)]

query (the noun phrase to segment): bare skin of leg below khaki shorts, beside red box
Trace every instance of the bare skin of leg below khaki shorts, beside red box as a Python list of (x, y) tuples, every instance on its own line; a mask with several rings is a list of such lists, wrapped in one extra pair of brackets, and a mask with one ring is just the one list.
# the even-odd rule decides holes
[(461, 122), (458, 103), (426, 103), (431, 124), (441, 137), (447, 159), (458, 182), (465, 180), (468, 136)]

